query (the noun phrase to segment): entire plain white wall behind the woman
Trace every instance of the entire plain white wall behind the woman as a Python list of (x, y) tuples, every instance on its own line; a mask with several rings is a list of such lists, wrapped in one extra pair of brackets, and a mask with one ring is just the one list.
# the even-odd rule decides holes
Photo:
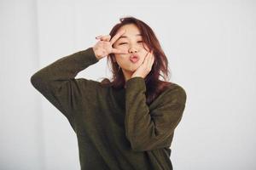
[[(125, 15), (153, 28), (172, 82), (187, 92), (174, 169), (255, 169), (255, 7), (249, 0), (0, 1), (0, 169), (79, 169), (75, 133), (30, 77), (93, 46)], [(78, 75), (109, 76), (106, 59)]]

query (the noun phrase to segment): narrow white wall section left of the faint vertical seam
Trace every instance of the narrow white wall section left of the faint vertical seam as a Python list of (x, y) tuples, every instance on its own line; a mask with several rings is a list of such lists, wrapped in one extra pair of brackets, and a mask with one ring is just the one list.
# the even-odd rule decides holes
[(29, 83), (38, 69), (36, 3), (0, 1), (0, 169), (44, 169), (41, 102)]

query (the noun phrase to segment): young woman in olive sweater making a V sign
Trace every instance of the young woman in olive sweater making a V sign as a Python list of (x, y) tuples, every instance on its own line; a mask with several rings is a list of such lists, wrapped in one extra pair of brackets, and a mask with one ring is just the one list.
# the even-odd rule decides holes
[[(142, 20), (125, 17), (96, 39), (93, 47), (32, 75), (33, 87), (73, 127), (81, 169), (171, 170), (170, 147), (186, 93), (166, 81), (167, 58), (154, 31)], [(111, 63), (111, 81), (75, 78), (104, 57)]]

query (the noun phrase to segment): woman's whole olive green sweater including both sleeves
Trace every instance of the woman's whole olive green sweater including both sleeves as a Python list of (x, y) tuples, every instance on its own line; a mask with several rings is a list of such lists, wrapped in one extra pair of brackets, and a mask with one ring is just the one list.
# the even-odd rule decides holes
[(31, 77), (32, 86), (73, 127), (81, 169), (171, 170), (170, 146), (185, 108), (184, 89), (173, 83), (147, 105), (142, 77), (129, 79), (120, 89), (75, 78), (98, 61), (93, 49), (87, 48)]

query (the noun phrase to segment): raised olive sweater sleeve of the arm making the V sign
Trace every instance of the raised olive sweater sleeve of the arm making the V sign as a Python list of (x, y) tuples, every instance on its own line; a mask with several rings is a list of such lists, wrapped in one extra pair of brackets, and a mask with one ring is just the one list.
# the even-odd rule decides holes
[(79, 103), (81, 87), (93, 86), (93, 80), (75, 79), (79, 71), (98, 62), (92, 48), (87, 48), (74, 54), (57, 59), (34, 73), (31, 83), (52, 105), (67, 117), (74, 127), (73, 110)]

